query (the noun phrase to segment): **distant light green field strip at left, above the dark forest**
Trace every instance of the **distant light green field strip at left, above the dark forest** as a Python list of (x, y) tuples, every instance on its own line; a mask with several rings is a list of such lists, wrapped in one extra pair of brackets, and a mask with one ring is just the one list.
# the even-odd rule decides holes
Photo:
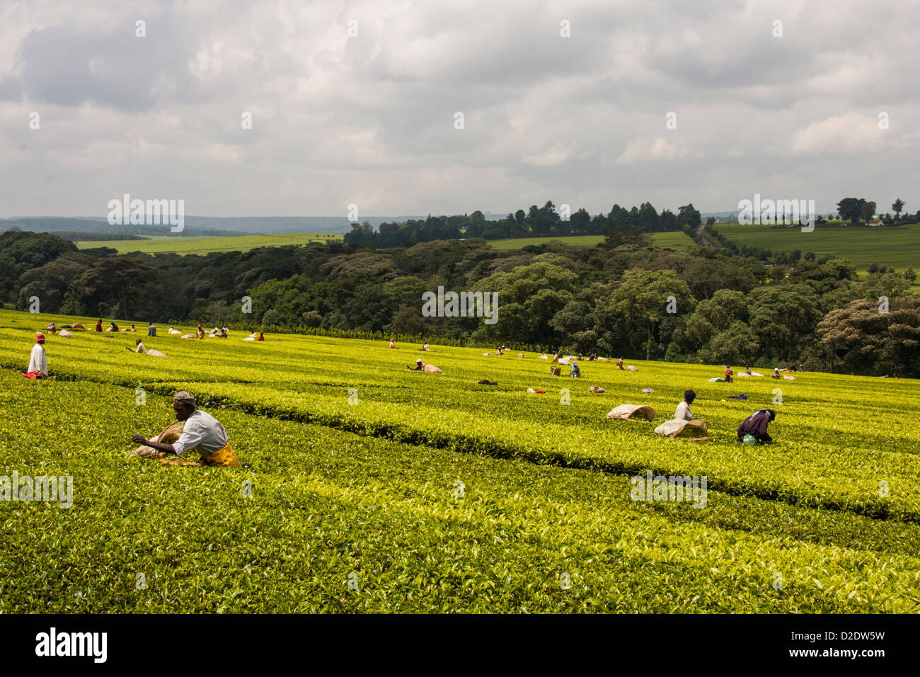
[(309, 242), (325, 242), (328, 239), (342, 239), (342, 236), (327, 233), (276, 233), (218, 238), (180, 238), (167, 235), (150, 239), (103, 239), (77, 242), (76, 246), (82, 250), (93, 247), (111, 247), (118, 250), (119, 253), (144, 251), (148, 254), (207, 254), (212, 251), (249, 251), (257, 247), (282, 247)]

